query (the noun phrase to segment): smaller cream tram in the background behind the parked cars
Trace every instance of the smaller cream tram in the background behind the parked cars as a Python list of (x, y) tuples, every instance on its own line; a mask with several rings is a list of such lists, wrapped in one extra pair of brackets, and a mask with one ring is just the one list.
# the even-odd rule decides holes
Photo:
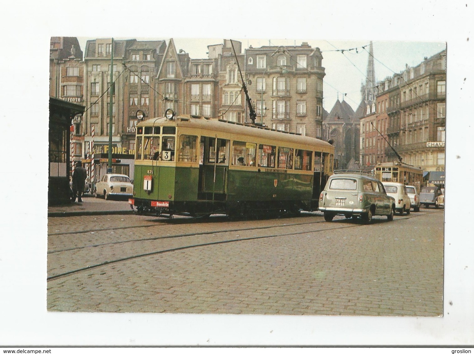
[(375, 178), (382, 182), (398, 182), (415, 186), (419, 192), (423, 186), (423, 170), (403, 162), (383, 162), (375, 165)]

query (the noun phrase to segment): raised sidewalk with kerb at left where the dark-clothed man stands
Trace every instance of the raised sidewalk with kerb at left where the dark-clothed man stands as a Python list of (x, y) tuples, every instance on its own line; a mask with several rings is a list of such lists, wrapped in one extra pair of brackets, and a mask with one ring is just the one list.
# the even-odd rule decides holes
[(91, 195), (82, 197), (82, 203), (48, 206), (48, 217), (81, 216), (81, 215), (111, 215), (132, 214), (128, 199), (104, 200)]

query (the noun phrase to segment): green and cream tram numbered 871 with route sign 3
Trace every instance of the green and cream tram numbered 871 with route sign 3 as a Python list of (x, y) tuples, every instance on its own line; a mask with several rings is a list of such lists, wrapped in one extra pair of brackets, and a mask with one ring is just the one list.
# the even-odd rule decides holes
[(137, 124), (136, 139), (138, 214), (314, 211), (333, 170), (328, 142), (171, 110)]

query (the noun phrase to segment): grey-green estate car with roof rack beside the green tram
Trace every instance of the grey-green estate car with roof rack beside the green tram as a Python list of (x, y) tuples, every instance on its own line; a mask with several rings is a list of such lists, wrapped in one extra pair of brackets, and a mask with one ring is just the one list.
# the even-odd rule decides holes
[(395, 199), (385, 192), (378, 179), (362, 173), (335, 173), (319, 195), (319, 211), (324, 220), (331, 221), (335, 215), (346, 218), (361, 217), (370, 223), (374, 215), (386, 215), (393, 220)]

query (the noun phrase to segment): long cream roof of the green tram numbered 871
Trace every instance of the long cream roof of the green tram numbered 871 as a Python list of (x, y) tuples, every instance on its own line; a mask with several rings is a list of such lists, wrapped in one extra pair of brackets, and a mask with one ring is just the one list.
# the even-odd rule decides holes
[(299, 144), (316, 145), (319, 147), (334, 148), (328, 142), (320, 139), (311, 138), (309, 136), (303, 136), (293, 133), (285, 133), (270, 129), (268, 127), (259, 127), (250, 124), (239, 124), (227, 121), (221, 121), (216, 119), (206, 119), (203, 117), (194, 118), (190, 115), (181, 115), (175, 117), (173, 120), (168, 120), (166, 117), (151, 118), (146, 121), (140, 122), (137, 126), (178, 126), (178, 127), (189, 127), (197, 129), (208, 129), (219, 132), (241, 134), (247, 136), (255, 136), (259, 138), (267, 138), (280, 140), (285, 142), (293, 142)]

